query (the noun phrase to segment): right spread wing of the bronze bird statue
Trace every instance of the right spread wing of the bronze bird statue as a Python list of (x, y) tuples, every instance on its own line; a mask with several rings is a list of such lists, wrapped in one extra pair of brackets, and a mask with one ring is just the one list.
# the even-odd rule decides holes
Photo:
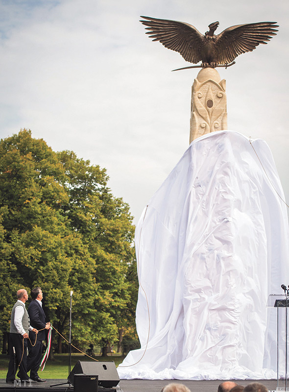
[(216, 36), (217, 63), (227, 64), (239, 54), (256, 49), (270, 41), (279, 27), (276, 22), (260, 22), (226, 28)]

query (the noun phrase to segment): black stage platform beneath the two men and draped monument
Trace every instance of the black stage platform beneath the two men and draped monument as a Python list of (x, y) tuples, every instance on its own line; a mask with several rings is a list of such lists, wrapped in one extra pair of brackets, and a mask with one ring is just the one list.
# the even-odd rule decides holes
[[(13, 392), (17, 390), (18, 392), (27, 391), (27, 389), (33, 390), (33, 392), (66, 392), (73, 391), (73, 387), (69, 388), (69, 385), (62, 385), (58, 387), (50, 387), (50, 385), (65, 383), (67, 380), (59, 379), (48, 379), (46, 383), (26, 383), (22, 385), (17, 385), (14, 387), (13, 384), (6, 384), (5, 380), (0, 380), (0, 392)], [(192, 392), (217, 392), (218, 385), (224, 380), (213, 380), (213, 381), (192, 381), (192, 380), (120, 380), (120, 389), (117, 392), (161, 392), (161, 389), (169, 384), (170, 382), (176, 382), (185, 384)], [(252, 382), (261, 382), (264, 384), (269, 391), (275, 391), (277, 387), (276, 380), (237, 380), (238, 384), (246, 386)], [(284, 384), (284, 382), (282, 382)], [(280, 385), (279, 381), (279, 387)], [(284, 388), (285, 390), (285, 388)], [(112, 392), (115, 389), (98, 389), (98, 392)], [(83, 391), (85, 392), (85, 391)]]

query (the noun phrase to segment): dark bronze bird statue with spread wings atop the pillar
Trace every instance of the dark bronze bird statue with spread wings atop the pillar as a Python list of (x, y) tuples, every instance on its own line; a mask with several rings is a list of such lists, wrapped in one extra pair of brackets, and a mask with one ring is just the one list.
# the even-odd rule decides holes
[(230, 65), (239, 54), (252, 51), (259, 44), (266, 44), (278, 31), (273, 27), (279, 27), (276, 22), (250, 23), (228, 27), (215, 35), (219, 25), (215, 22), (203, 35), (188, 23), (147, 16), (141, 18), (144, 20), (140, 22), (148, 26), (145, 28), (149, 30), (146, 34), (150, 34), (153, 41), (160, 41), (166, 48), (179, 52), (190, 63), (201, 61), (203, 68)]

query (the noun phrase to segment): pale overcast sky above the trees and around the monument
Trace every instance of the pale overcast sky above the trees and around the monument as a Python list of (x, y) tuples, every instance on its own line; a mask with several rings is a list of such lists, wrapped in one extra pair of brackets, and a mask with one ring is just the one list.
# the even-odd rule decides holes
[(262, 138), (289, 199), (288, 0), (0, 0), (0, 138), (29, 128), (53, 150), (107, 169), (109, 187), (138, 221), (189, 144), (198, 70), (152, 42), (140, 15), (205, 33), (263, 21), (277, 36), (236, 65), (227, 83), (228, 129)]

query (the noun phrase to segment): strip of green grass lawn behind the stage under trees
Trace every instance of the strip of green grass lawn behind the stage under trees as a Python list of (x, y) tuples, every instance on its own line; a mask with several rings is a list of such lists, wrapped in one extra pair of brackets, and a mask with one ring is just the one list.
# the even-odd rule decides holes
[[(123, 361), (123, 356), (121, 355), (108, 355), (107, 357), (95, 357), (100, 362), (111, 362), (114, 361), (116, 366), (118, 366)], [(39, 371), (39, 376), (41, 378), (61, 378), (67, 379), (69, 375), (69, 356), (68, 354), (54, 354), (54, 361), (47, 361), (45, 369)], [(71, 368), (76, 364), (77, 361), (91, 361), (91, 358), (86, 357), (83, 354), (72, 354), (71, 358)], [(0, 378), (6, 378), (6, 373), (8, 369), (9, 357), (5, 354), (0, 355)]]

